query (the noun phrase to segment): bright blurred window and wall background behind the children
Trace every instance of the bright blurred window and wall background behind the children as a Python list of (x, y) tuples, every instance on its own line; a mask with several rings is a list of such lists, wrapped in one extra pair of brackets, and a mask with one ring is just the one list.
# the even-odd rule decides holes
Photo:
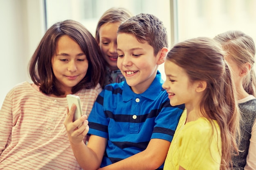
[[(27, 65), (47, 28), (72, 19), (95, 35), (99, 18), (111, 7), (159, 17), (169, 49), (185, 39), (213, 38), (228, 30), (256, 41), (256, 0), (0, 0), (0, 107), (14, 85), (31, 82)], [(163, 64), (159, 70), (165, 80)]]

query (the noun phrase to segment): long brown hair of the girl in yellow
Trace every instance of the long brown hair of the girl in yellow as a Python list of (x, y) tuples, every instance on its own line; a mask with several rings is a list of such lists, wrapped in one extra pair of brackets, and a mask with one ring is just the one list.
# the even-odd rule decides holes
[(231, 72), (220, 44), (207, 37), (189, 39), (176, 44), (168, 52), (166, 60), (183, 68), (192, 82), (207, 82), (200, 109), (212, 125), (213, 120), (216, 120), (220, 126), (220, 169), (229, 169), (232, 164), (231, 155), (238, 154), (236, 136), (239, 134), (240, 113), (235, 101)]

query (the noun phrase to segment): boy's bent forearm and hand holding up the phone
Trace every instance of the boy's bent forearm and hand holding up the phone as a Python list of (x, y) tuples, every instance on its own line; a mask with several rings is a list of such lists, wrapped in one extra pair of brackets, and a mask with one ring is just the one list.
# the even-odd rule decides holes
[[(88, 145), (83, 142), (83, 138), (89, 131), (86, 115), (72, 122), (76, 107), (72, 105), (70, 112), (67, 113), (64, 125), (70, 144), (79, 165), (85, 170), (96, 170), (101, 165), (101, 160), (105, 152), (107, 139), (96, 135), (91, 135)], [(67, 109), (68, 110), (68, 109)], [(83, 123), (79, 128), (77, 126)]]

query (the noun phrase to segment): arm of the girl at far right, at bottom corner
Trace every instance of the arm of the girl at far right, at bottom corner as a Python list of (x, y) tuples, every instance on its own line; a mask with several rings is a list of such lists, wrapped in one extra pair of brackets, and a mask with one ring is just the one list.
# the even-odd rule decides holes
[(250, 145), (248, 150), (248, 155), (246, 159), (245, 170), (256, 169), (256, 119), (252, 126), (252, 136), (250, 139)]

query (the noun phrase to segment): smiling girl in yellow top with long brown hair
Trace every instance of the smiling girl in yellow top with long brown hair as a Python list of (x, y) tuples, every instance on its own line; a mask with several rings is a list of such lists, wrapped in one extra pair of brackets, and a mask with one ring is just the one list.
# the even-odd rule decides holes
[(172, 106), (185, 104), (164, 170), (227, 170), (238, 153), (239, 111), (221, 46), (199, 37), (176, 44), (162, 85)]

